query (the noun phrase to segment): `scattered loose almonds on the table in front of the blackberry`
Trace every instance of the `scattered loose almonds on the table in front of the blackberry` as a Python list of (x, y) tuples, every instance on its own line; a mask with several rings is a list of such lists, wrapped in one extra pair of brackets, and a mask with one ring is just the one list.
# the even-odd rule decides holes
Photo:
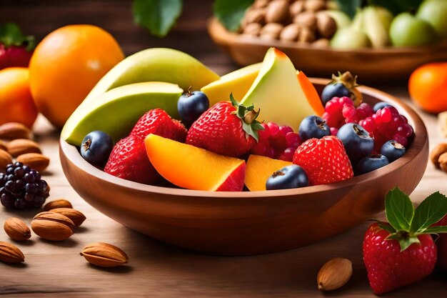
[[(36, 214), (31, 221), (34, 234), (49, 241), (63, 241), (69, 239), (86, 217), (82, 212), (73, 209), (66, 199), (48, 202), (44, 212)], [(4, 230), (9, 238), (16, 242), (27, 241), (31, 238), (31, 230), (21, 219), (11, 217), (4, 222)], [(129, 257), (114, 245), (96, 242), (86, 245), (81, 252), (88, 262), (99, 267), (117, 267), (129, 262)], [(16, 245), (0, 242), (0, 261), (7, 263), (25, 262), (23, 252)]]

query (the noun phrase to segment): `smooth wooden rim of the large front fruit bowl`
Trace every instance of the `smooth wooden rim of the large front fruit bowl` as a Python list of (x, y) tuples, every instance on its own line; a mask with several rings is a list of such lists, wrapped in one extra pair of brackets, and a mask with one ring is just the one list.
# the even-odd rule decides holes
[[(320, 78), (310, 78), (313, 84), (325, 85), (328, 83), (328, 79)], [(373, 96), (380, 101), (386, 101), (396, 106), (399, 112), (403, 113), (408, 121), (412, 122), (413, 129), (415, 131), (415, 136), (413, 138), (411, 146), (408, 148), (406, 154), (403, 157), (397, 159), (395, 162), (388, 164), (381, 169), (376, 169), (373, 172), (367, 174), (362, 174), (357, 177), (345, 180), (343, 182), (335, 182), (331, 184), (315, 185), (310, 187), (303, 187), (298, 189), (280, 189), (280, 190), (269, 190), (269, 191), (258, 191), (258, 192), (209, 192), (203, 190), (192, 190), (192, 189), (177, 189), (171, 187), (158, 187), (154, 185), (141, 184), (138, 182), (131, 182), (129, 180), (121, 179), (119, 177), (114, 177), (111, 174), (101, 171), (94, 167), (93, 165), (86, 162), (79, 154), (76, 146), (68, 144), (64, 139), (60, 138), (60, 154), (64, 154), (64, 157), (71, 162), (75, 167), (78, 167), (82, 172), (95, 177), (96, 179), (104, 180), (110, 184), (115, 184), (116, 187), (127, 188), (132, 190), (138, 190), (141, 192), (157, 193), (157, 194), (169, 194), (173, 196), (180, 197), (219, 197), (227, 199), (247, 199), (247, 198), (262, 198), (262, 199), (276, 199), (278, 197), (290, 197), (298, 195), (306, 195), (315, 192), (329, 192), (335, 189), (343, 189), (346, 187), (354, 187), (362, 182), (368, 182), (376, 177), (386, 175), (393, 172), (395, 169), (403, 167), (405, 164), (411, 162), (411, 160), (421, 151), (424, 146), (428, 146), (428, 133), (425, 124), (420, 116), (411, 109), (403, 101), (397, 99), (391, 94), (379, 91), (368, 86), (359, 86), (359, 90), (362, 94), (368, 96)]]

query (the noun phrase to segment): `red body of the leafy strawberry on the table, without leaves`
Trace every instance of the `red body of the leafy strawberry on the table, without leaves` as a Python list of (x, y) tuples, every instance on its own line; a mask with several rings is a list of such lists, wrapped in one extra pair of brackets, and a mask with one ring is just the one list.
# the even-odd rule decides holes
[(413, 243), (402, 252), (396, 239), (387, 239), (389, 235), (374, 223), (363, 239), (363, 262), (376, 294), (413, 284), (431, 274), (436, 264), (436, 246), (429, 234), (419, 235), (421, 244)]

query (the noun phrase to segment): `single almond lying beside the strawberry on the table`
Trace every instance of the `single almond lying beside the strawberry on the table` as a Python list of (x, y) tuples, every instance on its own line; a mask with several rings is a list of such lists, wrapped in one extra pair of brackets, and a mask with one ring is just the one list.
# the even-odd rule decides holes
[(352, 262), (334, 258), (321, 267), (316, 277), (320, 291), (331, 291), (343, 287), (352, 275)]

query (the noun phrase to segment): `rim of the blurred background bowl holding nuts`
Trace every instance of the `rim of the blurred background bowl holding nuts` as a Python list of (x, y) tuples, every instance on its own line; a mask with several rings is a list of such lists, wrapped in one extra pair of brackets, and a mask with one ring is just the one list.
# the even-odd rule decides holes
[(298, 44), (293, 41), (279, 41), (276, 39), (266, 40), (257, 36), (236, 34), (228, 31), (224, 25), (215, 17), (211, 17), (208, 22), (208, 31), (212, 39), (219, 44), (248, 44), (252, 46), (274, 46), (278, 49), (289, 50), (312, 50), (324, 54), (336, 52), (338, 54), (363, 54), (363, 55), (402, 55), (402, 54), (429, 54), (437, 51), (447, 51), (447, 40), (441, 40), (428, 46), (385, 46), (383, 48), (360, 48), (360, 49), (333, 49), (326, 47)]

